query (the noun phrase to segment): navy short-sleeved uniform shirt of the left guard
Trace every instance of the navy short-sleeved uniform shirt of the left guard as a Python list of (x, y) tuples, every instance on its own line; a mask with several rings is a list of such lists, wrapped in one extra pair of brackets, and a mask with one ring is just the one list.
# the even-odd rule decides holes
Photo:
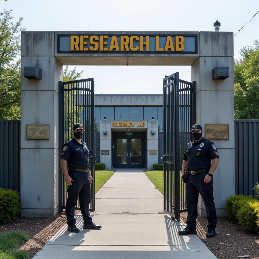
[(67, 161), (69, 167), (75, 167), (78, 169), (89, 168), (89, 150), (83, 140), (80, 144), (74, 138), (70, 139), (63, 145), (62, 154), (60, 158)]

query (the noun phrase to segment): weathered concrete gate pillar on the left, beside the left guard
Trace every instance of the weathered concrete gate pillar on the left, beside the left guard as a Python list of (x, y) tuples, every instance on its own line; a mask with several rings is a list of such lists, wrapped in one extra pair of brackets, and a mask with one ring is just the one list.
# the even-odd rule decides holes
[[(42, 80), (23, 76), (25, 65), (42, 69)], [(21, 216), (58, 212), (59, 80), (62, 64), (54, 57), (54, 32), (21, 32)], [(27, 124), (48, 124), (49, 140), (27, 140)]]

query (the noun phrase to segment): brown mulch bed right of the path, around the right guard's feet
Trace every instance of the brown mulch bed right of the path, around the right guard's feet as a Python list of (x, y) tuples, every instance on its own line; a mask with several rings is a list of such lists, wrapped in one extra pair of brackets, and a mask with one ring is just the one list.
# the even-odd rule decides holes
[[(181, 213), (180, 217), (186, 223), (187, 213)], [(206, 238), (207, 224), (206, 218), (197, 218), (197, 235), (217, 258), (249, 255), (249, 258), (259, 259), (259, 233), (246, 232), (241, 225), (221, 217), (217, 219), (216, 236)]]

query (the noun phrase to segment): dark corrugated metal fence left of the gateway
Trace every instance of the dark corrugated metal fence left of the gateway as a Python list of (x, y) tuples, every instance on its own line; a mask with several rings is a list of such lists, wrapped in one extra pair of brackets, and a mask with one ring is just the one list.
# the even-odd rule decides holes
[(20, 192), (20, 120), (0, 120), (0, 187)]

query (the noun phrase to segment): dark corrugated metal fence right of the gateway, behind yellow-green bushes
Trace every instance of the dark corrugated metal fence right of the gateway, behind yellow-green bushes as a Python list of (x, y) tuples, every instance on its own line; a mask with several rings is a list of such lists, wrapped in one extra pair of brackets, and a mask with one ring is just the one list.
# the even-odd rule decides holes
[(259, 182), (259, 120), (235, 120), (235, 193), (254, 195)]

